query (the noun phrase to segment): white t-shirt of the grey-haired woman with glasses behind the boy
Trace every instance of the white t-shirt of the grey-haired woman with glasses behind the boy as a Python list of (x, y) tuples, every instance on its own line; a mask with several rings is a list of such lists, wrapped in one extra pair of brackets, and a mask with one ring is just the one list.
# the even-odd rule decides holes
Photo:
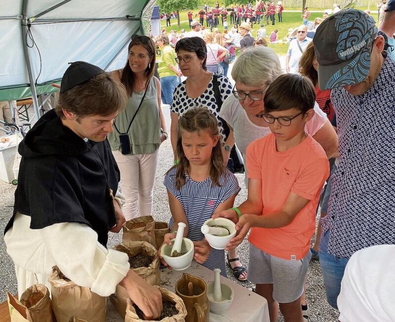
[[(314, 105), (313, 119), (306, 123), (306, 132), (312, 137), (320, 130), (326, 122), (329, 122), (326, 114), (319, 108), (318, 104)], [(247, 113), (240, 105), (238, 99), (233, 95), (229, 95), (222, 104), (219, 116), (222, 117), (231, 128), (235, 136), (237, 148), (243, 154), (245, 164), (245, 151), (247, 145), (258, 138), (266, 137), (270, 134), (269, 125), (267, 127), (259, 126), (248, 118)], [(244, 167), (245, 168), (245, 167)], [(247, 171), (245, 169), (245, 178)]]

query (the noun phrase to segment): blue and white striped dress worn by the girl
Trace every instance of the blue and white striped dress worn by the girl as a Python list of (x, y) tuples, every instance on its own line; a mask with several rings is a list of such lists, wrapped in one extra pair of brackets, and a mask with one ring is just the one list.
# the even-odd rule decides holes
[[(196, 182), (185, 173), (186, 183), (180, 190), (176, 188), (176, 169), (172, 168), (164, 177), (163, 184), (167, 190), (182, 204), (188, 221), (188, 238), (193, 241), (203, 240), (204, 235), (200, 227), (210, 219), (218, 205), (235, 193), (240, 191), (236, 177), (228, 170), (222, 174), (220, 185), (212, 184), (208, 177), (206, 180)], [(173, 218), (170, 219), (170, 229), (173, 227)], [(214, 270), (219, 268), (221, 275), (226, 274), (225, 250), (211, 249), (210, 255), (203, 266)]]

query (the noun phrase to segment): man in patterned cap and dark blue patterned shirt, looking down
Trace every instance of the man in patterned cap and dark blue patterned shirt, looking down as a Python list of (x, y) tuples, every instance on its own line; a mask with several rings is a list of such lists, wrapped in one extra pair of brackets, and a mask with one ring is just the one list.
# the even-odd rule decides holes
[(328, 302), (337, 308), (349, 258), (395, 244), (395, 61), (360, 10), (325, 19), (313, 43), (319, 87), (332, 90), (338, 125), (340, 157), (319, 245)]

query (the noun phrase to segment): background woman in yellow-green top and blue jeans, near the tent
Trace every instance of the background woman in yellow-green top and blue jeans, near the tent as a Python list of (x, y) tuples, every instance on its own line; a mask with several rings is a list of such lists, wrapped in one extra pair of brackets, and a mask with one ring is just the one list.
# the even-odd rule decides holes
[(182, 73), (176, 67), (176, 53), (169, 45), (167, 35), (160, 34), (157, 39), (157, 44), (162, 51), (158, 64), (160, 86), (162, 87), (162, 101), (164, 104), (171, 105), (174, 89), (178, 85), (177, 77), (181, 77)]

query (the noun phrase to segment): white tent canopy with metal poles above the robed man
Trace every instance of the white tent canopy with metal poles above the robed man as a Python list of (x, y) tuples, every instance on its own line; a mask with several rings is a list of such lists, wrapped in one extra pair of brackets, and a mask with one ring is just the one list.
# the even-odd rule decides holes
[[(69, 62), (124, 66), (131, 35), (148, 34), (155, 0), (1, 0), (0, 101), (53, 91)], [(37, 86), (34, 86), (37, 84)]]

